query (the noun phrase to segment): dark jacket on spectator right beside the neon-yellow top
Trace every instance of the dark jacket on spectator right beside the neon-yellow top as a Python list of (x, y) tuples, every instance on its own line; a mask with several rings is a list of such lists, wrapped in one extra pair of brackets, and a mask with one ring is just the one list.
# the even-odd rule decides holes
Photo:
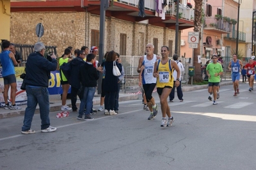
[(76, 57), (73, 60), (70, 61), (71, 65), (71, 77), (69, 77), (69, 84), (79, 89), (80, 88), (80, 80), (79, 80), (79, 69), (81, 65), (84, 65), (85, 61), (83, 61), (82, 58)]

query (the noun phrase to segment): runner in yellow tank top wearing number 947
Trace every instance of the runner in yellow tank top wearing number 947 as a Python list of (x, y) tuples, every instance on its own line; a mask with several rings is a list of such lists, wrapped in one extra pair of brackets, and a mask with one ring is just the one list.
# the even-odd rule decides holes
[[(157, 93), (160, 98), (161, 110), (162, 110), (162, 121), (161, 127), (171, 127), (175, 119), (171, 116), (171, 111), (167, 103), (167, 97), (171, 93), (173, 88), (173, 68), (177, 72), (177, 77), (180, 77), (180, 68), (177, 63), (169, 59), (169, 47), (162, 46), (161, 48), (162, 59), (158, 59), (155, 62), (155, 68), (153, 76), (157, 77)], [(180, 79), (176, 79), (175, 86), (180, 85)], [(166, 120), (166, 114), (168, 116), (168, 121)]]

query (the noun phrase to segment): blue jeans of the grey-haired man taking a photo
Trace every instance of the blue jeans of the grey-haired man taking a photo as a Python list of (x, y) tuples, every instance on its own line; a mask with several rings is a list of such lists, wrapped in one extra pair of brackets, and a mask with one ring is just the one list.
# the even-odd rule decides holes
[(39, 105), (41, 130), (50, 126), (49, 119), (49, 93), (46, 87), (26, 86), (28, 106), (26, 107), (22, 131), (30, 130), (37, 104)]

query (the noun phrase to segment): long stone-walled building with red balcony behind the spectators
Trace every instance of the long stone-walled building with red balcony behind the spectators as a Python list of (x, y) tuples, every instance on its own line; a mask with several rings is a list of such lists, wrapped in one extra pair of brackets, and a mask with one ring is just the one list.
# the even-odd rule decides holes
[[(139, 17), (139, 8), (131, 0), (110, 1), (105, 19), (105, 52), (115, 50), (122, 56), (141, 56), (147, 43), (155, 45), (160, 55), (162, 45), (175, 49), (175, 5), (167, 4), (166, 19), (155, 16), (155, 0), (145, 2), (146, 17)], [(180, 4), (180, 8), (186, 4)], [(44, 36), (40, 41), (57, 46), (58, 55), (72, 46), (99, 46), (100, 1), (51, 0), (46, 2), (11, 3), (10, 40), (33, 44), (38, 41), (35, 26), (42, 23)], [(189, 15), (188, 15), (189, 13)], [(191, 10), (179, 16), (179, 37), (182, 29), (193, 27)], [(180, 38), (179, 38), (180, 39)], [(178, 43), (180, 44), (180, 43)], [(178, 45), (180, 46), (180, 45)], [(178, 47), (180, 49), (180, 47)]]

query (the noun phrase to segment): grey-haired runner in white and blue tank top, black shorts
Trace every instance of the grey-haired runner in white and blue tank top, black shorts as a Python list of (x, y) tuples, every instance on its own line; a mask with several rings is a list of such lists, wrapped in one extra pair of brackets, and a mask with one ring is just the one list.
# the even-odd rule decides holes
[(146, 95), (146, 100), (150, 111), (148, 120), (153, 120), (153, 118), (157, 116), (158, 112), (157, 104), (155, 104), (155, 98), (152, 97), (152, 93), (157, 84), (157, 78), (153, 77), (154, 65), (155, 61), (157, 61), (157, 59), (160, 59), (160, 57), (156, 54), (153, 54), (153, 51), (154, 45), (148, 43), (146, 45), (146, 55), (141, 56), (137, 68), (138, 73), (142, 72), (142, 86)]

